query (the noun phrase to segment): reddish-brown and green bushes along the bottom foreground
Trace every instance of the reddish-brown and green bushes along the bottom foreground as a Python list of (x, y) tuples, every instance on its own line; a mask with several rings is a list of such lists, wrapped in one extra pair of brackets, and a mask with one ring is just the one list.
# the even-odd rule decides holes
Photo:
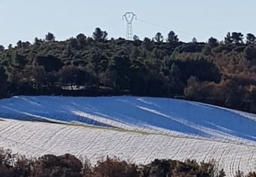
[[(199, 176), (224, 177), (224, 170), (212, 159), (210, 162), (200, 162), (186, 159), (177, 161), (171, 159), (155, 159), (146, 165), (137, 165), (120, 161), (117, 157), (102, 159), (96, 165), (91, 165), (85, 157), (74, 157), (70, 154), (55, 156), (43, 155), (38, 158), (27, 158), (12, 154), (11, 150), (0, 148), (1, 177), (163, 177), (163, 176)], [(235, 177), (255, 177), (255, 172), (244, 174), (236, 172)]]

